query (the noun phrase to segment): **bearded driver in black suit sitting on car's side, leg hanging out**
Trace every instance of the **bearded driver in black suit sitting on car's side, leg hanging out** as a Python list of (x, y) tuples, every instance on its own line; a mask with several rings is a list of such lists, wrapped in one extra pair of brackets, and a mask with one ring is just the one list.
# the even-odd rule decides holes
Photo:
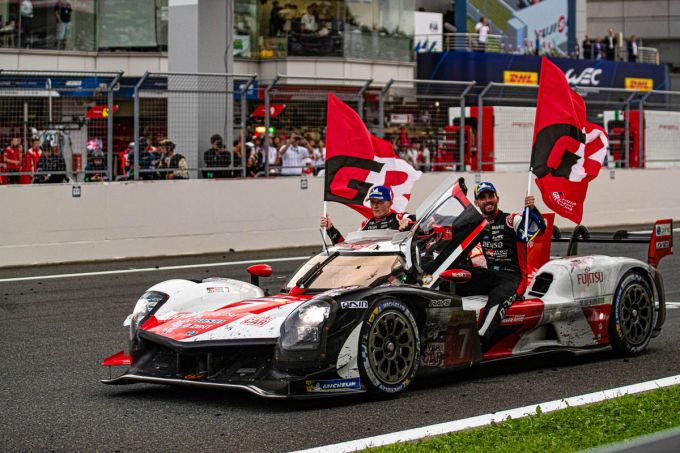
[[(526, 289), (527, 243), (519, 238), (517, 232), (517, 223), (524, 219), (498, 209), (499, 200), (496, 188), (490, 182), (481, 182), (475, 187), (475, 205), (488, 222), (481, 242), (487, 267), (461, 266), (470, 271), (472, 278), (458, 286), (461, 296), (489, 295), (479, 320), (484, 352), (493, 345), (493, 334), (505, 316), (505, 310)], [(534, 197), (528, 195), (524, 199), (524, 207), (542, 219), (534, 202)], [(540, 229), (545, 229), (542, 220)]]

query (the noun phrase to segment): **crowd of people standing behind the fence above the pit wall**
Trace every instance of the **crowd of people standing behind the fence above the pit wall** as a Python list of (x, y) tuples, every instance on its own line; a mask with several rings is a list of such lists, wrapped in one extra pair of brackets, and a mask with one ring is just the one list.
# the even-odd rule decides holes
[[(251, 137), (244, 146), (235, 140), (229, 149), (219, 134), (210, 137), (210, 147), (202, 153), (203, 163), (198, 164), (198, 176), (203, 179), (223, 179), (262, 176), (314, 176), (323, 174), (326, 146), (322, 139), (311, 134), (293, 132), (290, 135), (269, 137), (265, 150), (263, 136)], [(141, 180), (188, 179), (190, 168), (187, 159), (171, 139), (160, 140), (156, 146), (142, 137), (139, 143), (139, 178)], [(434, 171), (441, 156), (431, 152), (424, 141), (409, 141), (403, 136), (392, 141), (395, 153), (421, 171)], [(136, 142), (112, 156), (112, 179), (135, 179)], [(19, 137), (0, 149), (0, 185), (68, 182), (69, 175), (84, 174), (85, 182), (109, 181), (106, 154), (99, 139), (90, 140), (82, 154), (84, 171), (68, 169), (58, 140), (41, 141), (34, 138), (27, 151)], [(75, 164), (74, 164), (75, 165)], [(74, 170), (74, 171), (71, 171)], [(269, 173), (267, 173), (267, 171)], [(81, 179), (82, 180), (82, 179)]]

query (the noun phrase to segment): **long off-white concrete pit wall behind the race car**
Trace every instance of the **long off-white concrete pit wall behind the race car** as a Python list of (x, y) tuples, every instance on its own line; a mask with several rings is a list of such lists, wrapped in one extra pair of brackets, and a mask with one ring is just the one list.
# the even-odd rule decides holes
[[(527, 173), (427, 173), (409, 212), (445, 178), (492, 181), (500, 208), (520, 210)], [(590, 184), (583, 224), (651, 225), (680, 219), (680, 169), (603, 169)], [(319, 245), (323, 178), (0, 186), (0, 267)], [(538, 195), (533, 184), (532, 192)], [(472, 190), (469, 191), (472, 195)], [(540, 200), (537, 206), (543, 212)], [(329, 203), (342, 232), (358, 227), (353, 210)], [(557, 225), (573, 223), (558, 218)]]

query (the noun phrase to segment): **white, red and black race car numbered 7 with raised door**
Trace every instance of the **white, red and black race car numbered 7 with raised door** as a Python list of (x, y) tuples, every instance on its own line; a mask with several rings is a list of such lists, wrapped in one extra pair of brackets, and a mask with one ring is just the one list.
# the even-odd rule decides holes
[[(169, 280), (146, 291), (125, 321), (128, 350), (102, 365), (123, 367), (105, 384), (158, 383), (250, 391), (269, 398), (369, 392), (393, 397), (421, 373), (527, 354), (613, 348), (642, 352), (660, 333), (665, 295), (659, 260), (672, 253), (672, 222), (651, 234), (552, 228), (530, 243), (531, 280), (481, 352), (477, 323), (486, 296), (460, 297), (486, 220), (462, 179), (447, 181), (416, 212), (408, 232), (361, 231), (326, 248), (267, 296), (228, 278)], [(548, 220), (550, 216), (546, 216)], [(552, 230), (552, 231), (550, 231)], [(550, 256), (568, 241), (567, 256)], [(577, 256), (579, 242), (649, 244), (648, 262)]]

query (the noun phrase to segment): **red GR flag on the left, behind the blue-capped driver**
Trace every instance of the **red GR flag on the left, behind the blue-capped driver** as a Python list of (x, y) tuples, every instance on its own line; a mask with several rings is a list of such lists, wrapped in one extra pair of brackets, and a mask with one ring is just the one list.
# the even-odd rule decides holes
[(390, 142), (368, 132), (350, 106), (328, 95), (324, 201), (346, 204), (371, 217), (366, 195), (371, 187), (383, 185), (392, 189), (392, 209), (404, 212), (421, 175), (394, 153)]

